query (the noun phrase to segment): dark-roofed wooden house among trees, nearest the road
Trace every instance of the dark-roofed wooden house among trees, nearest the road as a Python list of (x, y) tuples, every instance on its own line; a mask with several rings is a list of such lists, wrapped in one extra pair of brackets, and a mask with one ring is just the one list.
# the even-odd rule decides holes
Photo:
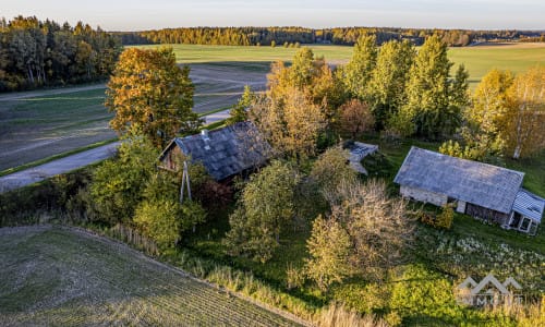
[(251, 122), (172, 140), (159, 157), (160, 168), (178, 170), (175, 158), (184, 155), (201, 161), (217, 181), (226, 180), (245, 170), (263, 165), (270, 154), (265, 142)]

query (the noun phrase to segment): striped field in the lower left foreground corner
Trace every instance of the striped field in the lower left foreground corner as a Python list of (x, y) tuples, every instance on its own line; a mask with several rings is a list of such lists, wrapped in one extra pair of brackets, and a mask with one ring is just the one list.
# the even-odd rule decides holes
[(83, 231), (2, 228), (0, 249), (0, 326), (296, 325)]

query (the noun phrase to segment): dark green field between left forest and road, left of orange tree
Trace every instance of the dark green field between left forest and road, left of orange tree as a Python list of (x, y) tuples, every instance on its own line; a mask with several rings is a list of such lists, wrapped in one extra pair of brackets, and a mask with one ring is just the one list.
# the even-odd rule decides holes
[(29, 95), (0, 96), (0, 170), (116, 137), (101, 85)]

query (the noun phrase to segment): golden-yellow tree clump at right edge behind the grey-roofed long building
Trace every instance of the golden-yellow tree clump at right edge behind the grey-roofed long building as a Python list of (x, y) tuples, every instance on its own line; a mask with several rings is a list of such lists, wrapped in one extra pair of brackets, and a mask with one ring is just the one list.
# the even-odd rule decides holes
[(545, 69), (517, 76), (493, 70), (477, 85), (465, 112), (465, 147), (504, 152), (516, 159), (532, 155), (545, 148), (544, 111)]

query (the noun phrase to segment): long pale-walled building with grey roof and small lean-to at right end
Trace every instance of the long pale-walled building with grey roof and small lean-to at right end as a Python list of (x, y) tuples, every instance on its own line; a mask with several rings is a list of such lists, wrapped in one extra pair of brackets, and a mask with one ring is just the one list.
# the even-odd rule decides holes
[(545, 199), (521, 187), (524, 173), (412, 147), (393, 182), (403, 197), (535, 234)]

